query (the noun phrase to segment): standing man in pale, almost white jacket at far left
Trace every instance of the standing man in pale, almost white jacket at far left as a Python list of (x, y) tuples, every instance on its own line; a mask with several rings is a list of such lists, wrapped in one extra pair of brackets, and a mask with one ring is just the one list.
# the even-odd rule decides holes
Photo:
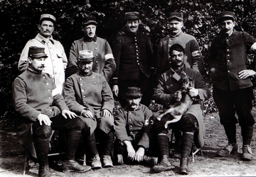
[(65, 82), (65, 69), (68, 59), (65, 55), (63, 45), (58, 40), (53, 40), (53, 30), (56, 18), (50, 14), (41, 15), (38, 29), (40, 32), (36, 38), (28, 40), (21, 52), (21, 57), (18, 61), (18, 71), (25, 72), (28, 68), (28, 49), (31, 46), (45, 48), (46, 58), (44, 73), (50, 75), (57, 86), (58, 91), (63, 93), (63, 84)]

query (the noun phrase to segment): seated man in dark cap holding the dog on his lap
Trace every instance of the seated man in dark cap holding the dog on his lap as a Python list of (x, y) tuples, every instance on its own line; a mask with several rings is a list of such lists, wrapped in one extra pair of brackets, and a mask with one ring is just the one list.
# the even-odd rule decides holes
[[(182, 174), (188, 174), (188, 161), (191, 154), (193, 142), (198, 148), (203, 147), (203, 135), (205, 133), (205, 125), (203, 123), (203, 110), (201, 101), (210, 97), (210, 91), (203, 76), (194, 69), (185, 66), (185, 50), (181, 45), (172, 45), (169, 50), (171, 56), (171, 69), (161, 74), (159, 83), (154, 92), (154, 100), (156, 103), (164, 105), (164, 110), (181, 100), (179, 90), (181, 89), (181, 75), (186, 74), (193, 80), (194, 87), (189, 88), (188, 95), (193, 99), (190, 108), (181, 117), (178, 122), (172, 123), (165, 128), (167, 120), (171, 118), (166, 115), (161, 120), (154, 120), (154, 131), (156, 132), (157, 144), (161, 154), (160, 164), (153, 167), (156, 172), (168, 171), (174, 168), (169, 161), (169, 140), (167, 133), (169, 129), (176, 129), (183, 132), (181, 137), (181, 169)], [(155, 116), (157, 117), (157, 115)]]

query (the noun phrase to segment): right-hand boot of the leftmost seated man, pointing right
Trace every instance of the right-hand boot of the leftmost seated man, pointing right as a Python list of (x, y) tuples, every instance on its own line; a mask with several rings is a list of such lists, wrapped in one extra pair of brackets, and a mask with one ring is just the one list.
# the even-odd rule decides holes
[(89, 171), (90, 169), (91, 169), (90, 166), (82, 166), (82, 165), (78, 164), (78, 162), (75, 160), (63, 161), (63, 172), (64, 173), (69, 173), (71, 171), (82, 173), (85, 171)]

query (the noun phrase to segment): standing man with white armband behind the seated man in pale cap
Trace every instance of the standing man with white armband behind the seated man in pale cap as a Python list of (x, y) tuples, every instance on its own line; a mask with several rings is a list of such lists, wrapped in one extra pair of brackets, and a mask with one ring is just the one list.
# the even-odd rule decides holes
[(78, 69), (79, 51), (90, 50), (94, 54), (94, 62), (92, 72), (96, 72), (105, 76), (107, 81), (110, 81), (116, 64), (112, 55), (112, 50), (107, 40), (97, 37), (96, 35), (97, 22), (95, 17), (88, 16), (82, 22), (82, 31), (84, 37), (80, 40), (75, 40), (70, 48), (70, 56), (68, 61), (68, 75), (75, 74)]

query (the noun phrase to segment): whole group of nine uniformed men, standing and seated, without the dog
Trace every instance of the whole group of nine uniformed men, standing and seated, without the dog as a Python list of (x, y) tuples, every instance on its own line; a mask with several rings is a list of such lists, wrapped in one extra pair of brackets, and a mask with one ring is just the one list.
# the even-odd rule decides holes
[[(39, 176), (52, 175), (48, 167), (52, 130), (65, 132), (63, 172), (109, 167), (112, 160), (117, 164), (144, 162), (157, 173), (169, 171), (174, 169), (167, 136), (171, 129), (180, 144), (180, 173), (189, 173), (192, 147), (204, 144), (202, 102), (210, 97), (210, 91), (200, 73), (203, 57), (198, 42), (182, 31), (183, 13), (169, 13), (167, 20), (170, 33), (160, 40), (155, 57), (149, 37), (139, 31), (138, 12), (125, 13), (126, 25), (112, 47), (97, 37), (97, 21), (88, 16), (82, 22), (84, 36), (73, 42), (68, 59), (63, 46), (52, 36), (56, 18), (41, 15), (40, 32), (23, 48), (18, 62), (22, 74), (13, 84), (18, 139), (38, 160)], [(228, 145), (217, 154), (238, 152), (235, 126), (239, 122), (242, 159), (251, 160), (255, 120), (250, 76), (256, 72), (246, 64), (247, 51), (256, 50), (256, 39), (234, 29), (233, 12), (220, 13), (218, 21), (220, 34), (212, 42), (207, 62)], [(193, 103), (167, 126), (173, 115), (158, 116), (182, 101), (184, 76), (193, 81), (186, 91)], [(114, 99), (122, 108), (113, 115)], [(163, 105), (163, 110), (152, 113), (147, 107), (151, 100)], [(81, 135), (90, 166), (75, 161)], [(100, 139), (100, 153), (96, 139)]]

